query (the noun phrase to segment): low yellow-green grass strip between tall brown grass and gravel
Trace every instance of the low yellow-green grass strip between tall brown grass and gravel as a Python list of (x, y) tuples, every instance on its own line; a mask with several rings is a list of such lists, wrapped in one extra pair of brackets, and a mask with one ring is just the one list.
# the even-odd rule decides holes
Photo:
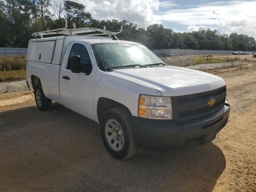
[(26, 78), (26, 70), (0, 71), (0, 82), (24, 80)]

